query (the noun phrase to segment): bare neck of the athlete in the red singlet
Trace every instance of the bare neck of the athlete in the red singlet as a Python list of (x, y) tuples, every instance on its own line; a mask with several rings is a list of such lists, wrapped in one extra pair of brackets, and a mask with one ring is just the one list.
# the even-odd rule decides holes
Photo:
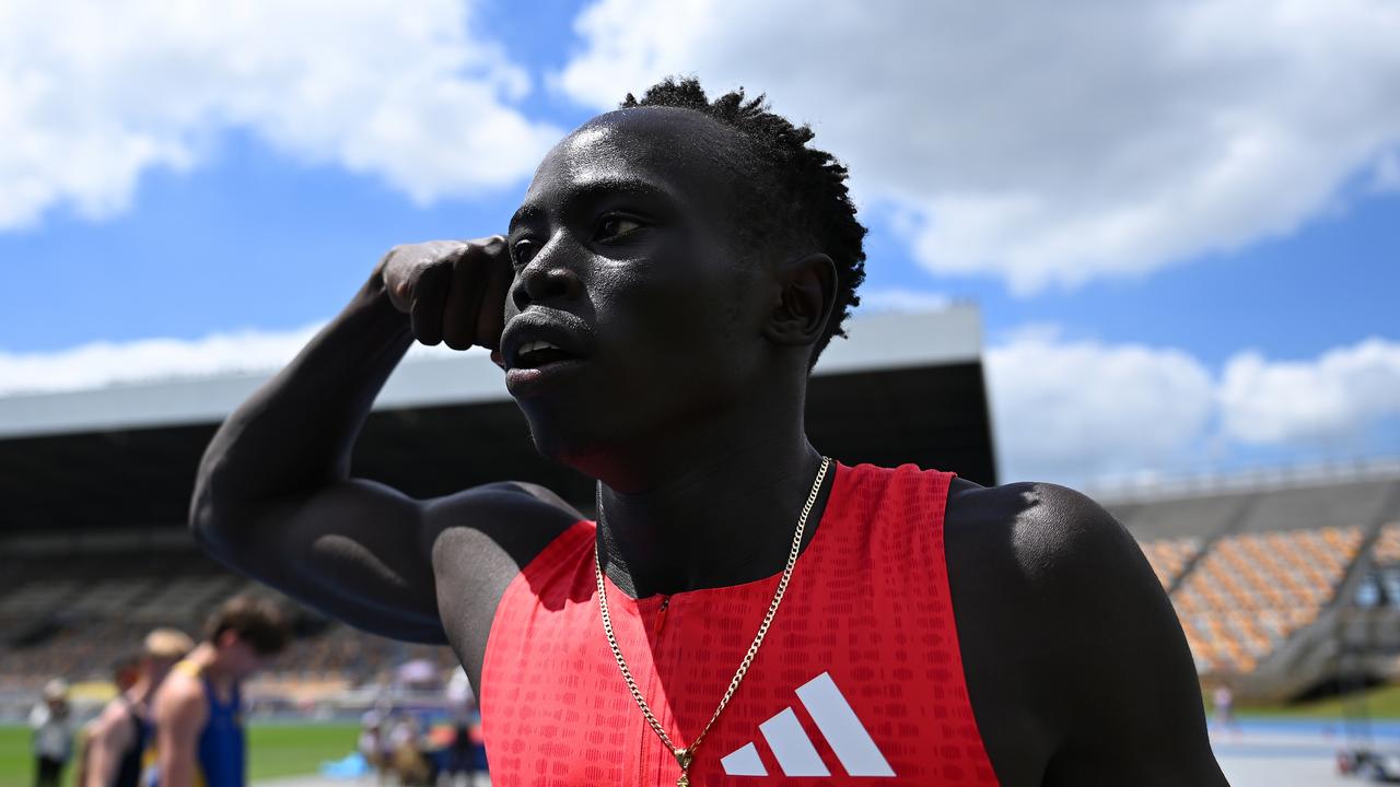
[[(749, 440), (714, 438), (743, 431), (697, 430), (701, 437), (689, 445), (666, 441), (666, 457), (687, 461), (666, 468), (658, 457), (640, 489), (629, 483), (622, 492), (601, 480), (598, 549), (613, 584), (643, 598), (781, 571), (822, 464), (802, 433), (801, 413), (792, 422), (777, 434), (749, 433)], [(804, 542), (816, 532), (834, 475), (833, 466), (808, 515)]]

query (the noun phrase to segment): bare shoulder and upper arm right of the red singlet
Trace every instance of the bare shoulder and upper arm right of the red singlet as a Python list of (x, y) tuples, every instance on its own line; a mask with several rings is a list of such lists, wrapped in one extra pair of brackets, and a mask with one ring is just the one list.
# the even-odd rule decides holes
[(1004, 783), (1224, 784), (1172, 604), (1102, 506), (965, 482), (945, 528), (967, 689)]

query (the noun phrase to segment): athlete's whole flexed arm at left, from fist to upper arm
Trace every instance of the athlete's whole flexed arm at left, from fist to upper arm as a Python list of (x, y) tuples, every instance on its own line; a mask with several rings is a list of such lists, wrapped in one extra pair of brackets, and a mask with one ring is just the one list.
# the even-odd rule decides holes
[[(291, 364), (228, 417), (200, 462), (190, 527), (221, 560), (358, 627), (444, 641), (433, 548), (447, 527), (529, 520), (545, 490), (490, 485), (413, 500), (349, 476), (375, 395), (414, 337), (496, 349), (500, 237), (396, 246)], [(519, 517), (525, 508), (524, 517)], [(566, 517), (567, 518), (567, 517)]]

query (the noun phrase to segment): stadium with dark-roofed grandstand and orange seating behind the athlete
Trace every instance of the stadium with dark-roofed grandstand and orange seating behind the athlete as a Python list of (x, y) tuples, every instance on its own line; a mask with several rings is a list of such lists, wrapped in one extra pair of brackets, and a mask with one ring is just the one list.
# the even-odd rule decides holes
[[(815, 372), (813, 444), (847, 464), (916, 462), (995, 483), (980, 330), (970, 305), (860, 318)], [(220, 602), (259, 590), (200, 553), (185, 511), (203, 447), (266, 377), (0, 398), (0, 723), (21, 723), (55, 676), (92, 707), (111, 696), (112, 664), (150, 627), (197, 632)], [(414, 496), (504, 478), (563, 490), (582, 510), (592, 494), (587, 479), (535, 454), (484, 353), (406, 361), (377, 402), (354, 472)], [(1170, 594), (1207, 693), (1226, 685), (1242, 703), (1277, 704), (1396, 674), (1400, 468), (1194, 479), (1096, 497)], [(447, 648), (297, 611), (293, 648), (249, 688), (255, 718), (353, 724), (386, 692), (442, 704), (455, 667)], [(332, 751), (350, 751), (349, 730)]]

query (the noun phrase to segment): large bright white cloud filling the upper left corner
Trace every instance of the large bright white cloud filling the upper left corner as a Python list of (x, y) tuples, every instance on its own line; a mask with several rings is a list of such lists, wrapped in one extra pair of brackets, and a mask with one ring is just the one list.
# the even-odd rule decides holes
[(0, 4), (0, 230), (127, 206), (223, 129), (414, 200), (528, 175), (559, 129), (461, 0)]

